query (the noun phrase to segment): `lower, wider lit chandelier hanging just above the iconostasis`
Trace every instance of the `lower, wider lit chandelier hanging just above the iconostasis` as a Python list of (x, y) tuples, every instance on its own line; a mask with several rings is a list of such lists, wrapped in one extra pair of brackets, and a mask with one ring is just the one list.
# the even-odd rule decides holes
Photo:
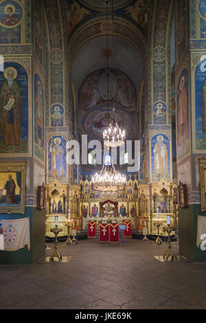
[(122, 190), (126, 183), (126, 176), (119, 174), (113, 165), (104, 165), (100, 173), (91, 177), (91, 181), (95, 190)]

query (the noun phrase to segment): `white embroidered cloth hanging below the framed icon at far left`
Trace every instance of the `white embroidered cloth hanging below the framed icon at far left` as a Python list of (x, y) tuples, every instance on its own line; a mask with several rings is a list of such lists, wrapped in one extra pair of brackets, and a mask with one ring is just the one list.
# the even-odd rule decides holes
[(2, 220), (4, 250), (14, 252), (27, 245), (30, 250), (30, 219)]

